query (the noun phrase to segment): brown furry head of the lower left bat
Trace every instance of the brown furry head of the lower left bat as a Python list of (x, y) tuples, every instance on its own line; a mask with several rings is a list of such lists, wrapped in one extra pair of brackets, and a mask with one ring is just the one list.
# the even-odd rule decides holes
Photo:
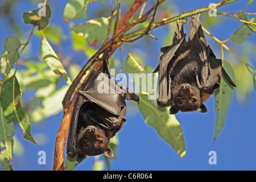
[(82, 128), (77, 138), (77, 160), (81, 160), (85, 155), (100, 155), (104, 153), (108, 157), (113, 157), (112, 149), (109, 148), (109, 138), (104, 130), (90, 125)]

